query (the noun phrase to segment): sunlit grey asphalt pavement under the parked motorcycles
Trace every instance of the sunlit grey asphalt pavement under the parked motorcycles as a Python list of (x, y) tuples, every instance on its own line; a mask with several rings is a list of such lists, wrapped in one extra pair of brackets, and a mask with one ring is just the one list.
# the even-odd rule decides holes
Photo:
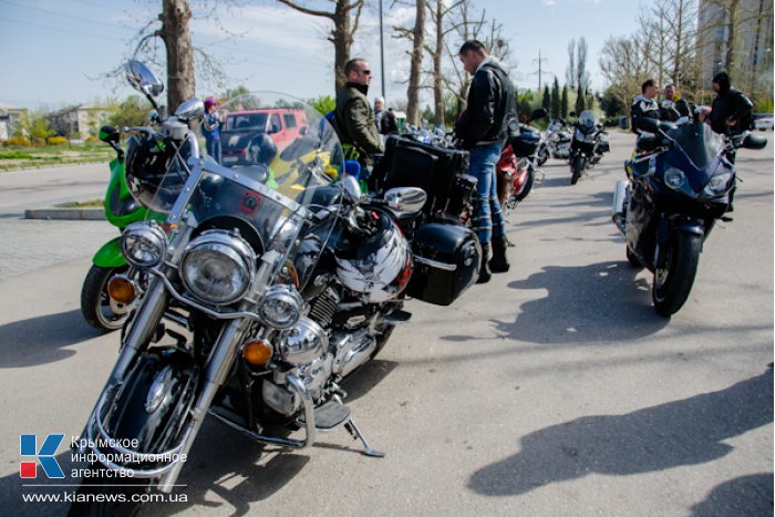
[[(738, 154), (734, 221), (707, 239), (671, 319), (610, 221), (632, 145), (613, 132), (576, 186), (549, 161), (509, 216), (510, 271), (451, 307), (409, 303), (412, 321), (344, 386), (385, 458), (343, 432), (273, 452), (207, 421), (178, 502), (143, 515), (772, 515), (772, 143)], [(116, 358), (117, 334), (79, 312), (113, 231), (0, 219), (0, 500), (14, 515), (66, 511), (23, 502), (69, 488), (22, 486), (19, 435), (79, 435)]]

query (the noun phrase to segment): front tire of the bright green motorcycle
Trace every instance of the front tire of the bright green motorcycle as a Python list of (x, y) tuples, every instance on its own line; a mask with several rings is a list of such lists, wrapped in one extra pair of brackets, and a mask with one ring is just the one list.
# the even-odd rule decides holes
[(116, 275), (122, 275), (127, 266), (103, 268), (92, 266), (81, 289), (81, 312), (86, 323), (101, 332), (118, 330), (130, 316), (130, 308), (124, 303), (111, 300), (107, 294), (107, 282)]

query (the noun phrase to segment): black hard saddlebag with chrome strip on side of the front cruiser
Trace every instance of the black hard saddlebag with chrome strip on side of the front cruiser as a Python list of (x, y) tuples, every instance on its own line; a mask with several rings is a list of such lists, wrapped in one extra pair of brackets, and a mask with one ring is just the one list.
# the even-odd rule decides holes
[(468, 228), (428, 223), (415, 232), (412, 250), (409, 296), (417, 300), (448, 306), (478, 278), (482, 246)]

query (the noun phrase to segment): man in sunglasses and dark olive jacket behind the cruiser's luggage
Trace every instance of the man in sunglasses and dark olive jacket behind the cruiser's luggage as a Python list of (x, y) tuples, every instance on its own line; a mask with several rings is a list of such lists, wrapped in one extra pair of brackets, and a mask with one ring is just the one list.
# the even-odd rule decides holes
[(376, 131), (374, 112), (366, 93), (371, 83), (371, 70), (364, 59), (353, 59), (344, 64), (348, 82), (337, 95), (334, 127), (342, 142), (344, 157), (371, 165), (371, 155), (383, 153), (382, 139)]

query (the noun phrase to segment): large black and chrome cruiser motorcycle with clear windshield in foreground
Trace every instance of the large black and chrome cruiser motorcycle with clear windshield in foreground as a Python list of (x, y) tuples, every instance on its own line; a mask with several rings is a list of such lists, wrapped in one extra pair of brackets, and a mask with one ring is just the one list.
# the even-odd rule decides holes
[[(136, 61), (127, 76), (138, 90), (161, 84)], [(125, 494), (152, 485), (169, 493), (207, 415), (288, 448), (345, 428), (365, 455), (383, 456), (355, 425), (339, 383), (409, 321), (410, 281), (418, 282), (422, 300), (434, 290), (459, 296), (467, 287), (463, 275), (475, 280), (478, 263), (432, 255), (455, 235), (426, 225), (414, 245), (428, 255), (411, 252), (397, 221), (420, 217), (423, 190), (363, 196), (338, 161), (343, 154), (333, 127), (314, 108), (267, 92), (223, 108), (248, 104), (304, 110), (308, 126), (290, 144), (297, 146), (292, 166), (272, 169), (282, 148), (231, 168), (203, 157), (188, 126), (204, 114), (198, 100), (184, 102), (161, 131), (128, 128), (127, 184), (149, 213), (166, 215), (167, 226), (148, 218), (121, 237), (124, 257), (145, 271), (148, 285), (137, 298), (131, 278), (110, 282), (110, 292), (133, 311), (75, 446), (96, 458), (79, 494), (107, 490), (132, 503), (114, 508), (111, 500), (121, 496), (79, 496), (71, 514), (134, 511), (138, 503)], [(415, 269), (415, 260), (432, 270)], [(91, 479), (116, 476), (124, 486)]]

